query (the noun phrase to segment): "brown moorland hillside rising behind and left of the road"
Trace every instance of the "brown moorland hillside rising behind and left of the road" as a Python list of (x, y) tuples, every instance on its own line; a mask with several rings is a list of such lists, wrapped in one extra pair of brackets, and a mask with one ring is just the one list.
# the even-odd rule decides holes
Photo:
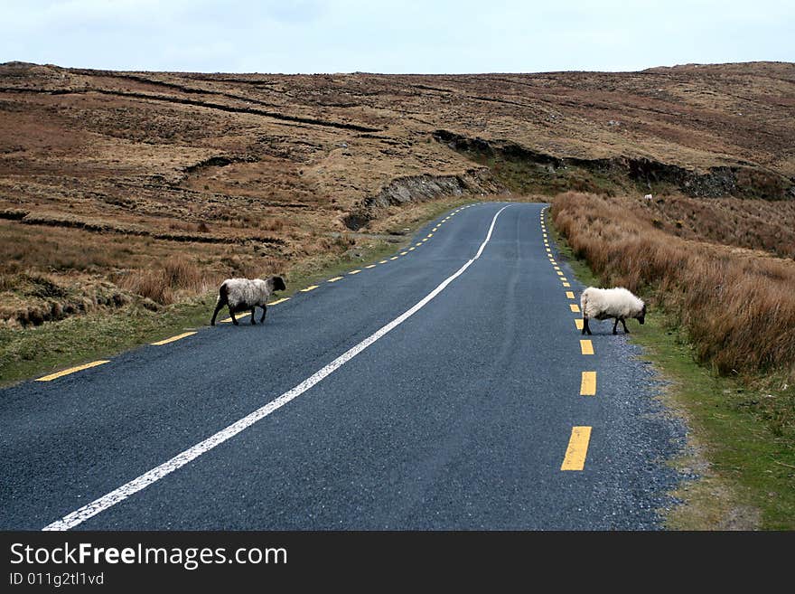
[(164, 274), (190, 294), (282, 271), (438, 196), (791, 201), (793, 138), (791, 63), (455, 76), (5, 63), (0, 318), (167, 304), (180, 293), (157, 293)]

